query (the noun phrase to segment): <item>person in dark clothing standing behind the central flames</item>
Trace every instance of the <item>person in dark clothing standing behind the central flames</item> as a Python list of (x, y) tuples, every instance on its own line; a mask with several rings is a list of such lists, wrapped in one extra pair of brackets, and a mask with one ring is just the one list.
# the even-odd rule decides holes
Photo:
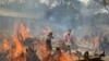
[(51, 39), (53, 39), (53, 36), (52, 36), (52, 32), (48, 33), (47, 35), (47, 39), (46, 39), (46, 46), (47, 46), (47, 49), (51, 52), (52, 51), (52, 46), (51, 46)]

